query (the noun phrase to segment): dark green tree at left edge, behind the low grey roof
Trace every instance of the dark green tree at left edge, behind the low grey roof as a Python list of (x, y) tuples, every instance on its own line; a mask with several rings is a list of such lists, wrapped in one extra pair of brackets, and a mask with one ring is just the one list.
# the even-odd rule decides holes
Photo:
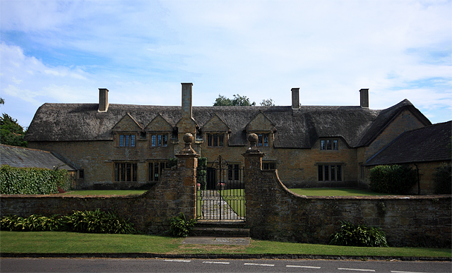
[(1, 144), (27, 147), (27, 142), (23, 141), (24, 136), (25, 131), (23, 131), (23, 127), (17, 123), (17, 119), (11, 118), (11, 116), (8, 116), (6, 113), (0, 117)]

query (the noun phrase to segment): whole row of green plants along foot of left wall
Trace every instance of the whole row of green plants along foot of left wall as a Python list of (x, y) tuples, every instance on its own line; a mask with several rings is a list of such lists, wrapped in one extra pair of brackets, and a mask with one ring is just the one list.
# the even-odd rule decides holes
[(75, 231), (81, 233), (136, 233), (133, 224), (112, 212), (76, 211), (58, 217), (32, 214), (28, 218), (11, 215), (0, 220), (1, 230), (8, 231)]

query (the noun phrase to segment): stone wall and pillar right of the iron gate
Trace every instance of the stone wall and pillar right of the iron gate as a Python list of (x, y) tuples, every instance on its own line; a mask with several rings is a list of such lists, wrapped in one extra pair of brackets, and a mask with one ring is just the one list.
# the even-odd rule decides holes
[(328, 243), (340, 221), (378, 226), (391, 246), (451, 246), (451, 195), (307, 197), (244, 154), (246, 226), (254, 238)]

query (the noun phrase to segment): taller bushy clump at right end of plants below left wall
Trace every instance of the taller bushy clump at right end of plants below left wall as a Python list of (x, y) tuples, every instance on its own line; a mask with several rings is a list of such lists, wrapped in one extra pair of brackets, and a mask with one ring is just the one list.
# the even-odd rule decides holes
[(61, 223), (69, 231), (82, 233), (135, 233), (133, 224), (118, 217), (112, 212), (101, 212), (99, 209), (91, 211), (76, 211), (61, 217)]

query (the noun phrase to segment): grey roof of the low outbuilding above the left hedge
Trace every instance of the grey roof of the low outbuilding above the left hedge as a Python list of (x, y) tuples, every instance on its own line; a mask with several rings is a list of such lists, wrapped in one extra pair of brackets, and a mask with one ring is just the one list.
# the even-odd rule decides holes
[(16, 147), (0, 144), (0, 165), (9, 165), (18, 168), (44, 168), (76, 171), (73, 166), (62, 162), (51, 152), (29, 149), (25, 147)]

